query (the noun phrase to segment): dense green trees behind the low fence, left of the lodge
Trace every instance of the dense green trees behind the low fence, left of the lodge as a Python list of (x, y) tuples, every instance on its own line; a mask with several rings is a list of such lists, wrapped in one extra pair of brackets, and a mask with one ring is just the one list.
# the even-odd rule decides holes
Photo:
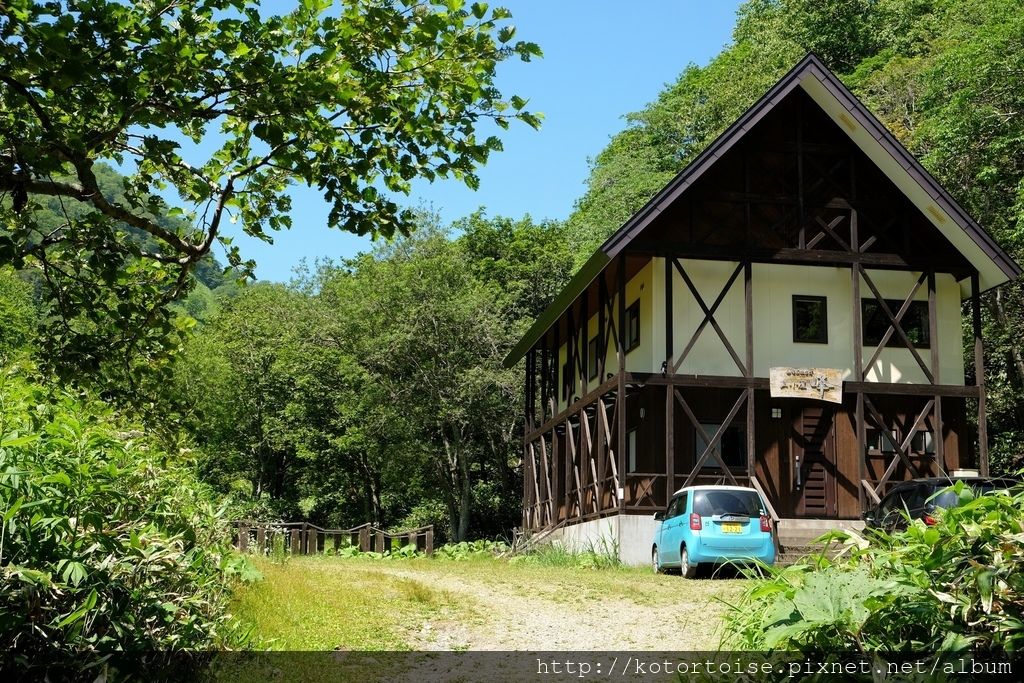
[(232, 514), (433, 524), (520, 515), (521, 374), (501, 361), (568, 276), (560, 224), (474, 214), (220, 303), (176, 364), (204, 478)]

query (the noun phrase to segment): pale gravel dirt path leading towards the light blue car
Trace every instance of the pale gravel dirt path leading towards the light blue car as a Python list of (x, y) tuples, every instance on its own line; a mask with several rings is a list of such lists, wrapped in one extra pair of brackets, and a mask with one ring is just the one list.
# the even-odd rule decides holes
[(561, 581), (531, 582), (529, 574), (510, 581), (485, 572), (453, 573), (444, 566), (374, 567), (465, 601), (466, 609), (454, 614), (440, 610), (410, 629), (411, 644), (419, 649), (714, 649), (725, 611), (717, 598), (728, 599), (739, 590), (735, 581), (639, 572), (597, 572), (604, 575), (594, 585), (579, 581), (574, 572)]

